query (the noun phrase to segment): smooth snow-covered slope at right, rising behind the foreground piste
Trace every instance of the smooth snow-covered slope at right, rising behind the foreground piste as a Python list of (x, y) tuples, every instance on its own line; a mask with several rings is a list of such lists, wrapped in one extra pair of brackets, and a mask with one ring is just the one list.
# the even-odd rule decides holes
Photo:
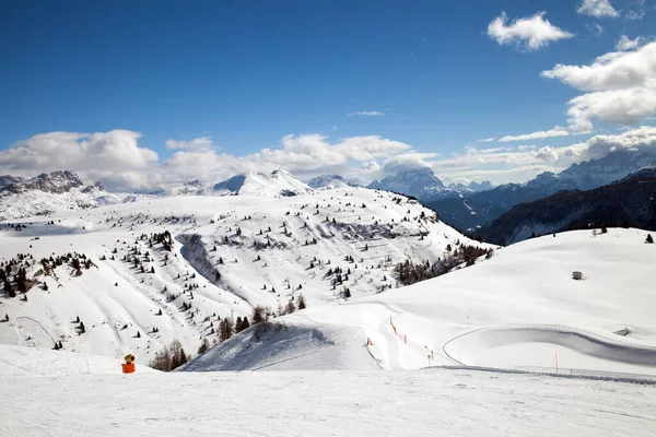
[[(656, 375), (656, 246), (645, 245), (645, 235), (530, 239), (469, 269), (286, 316), (261, 340), (250, 328), (186, 369), (324, 368), (329, 349), (349, 357), (338, 368), (353, 370), (368, 368), (371, 354), (386, 369), (461, 364), (555, 373), (558, 359), (558, 371), (574, 375)], [(583, 281), (572, 280), (573, 271)]]

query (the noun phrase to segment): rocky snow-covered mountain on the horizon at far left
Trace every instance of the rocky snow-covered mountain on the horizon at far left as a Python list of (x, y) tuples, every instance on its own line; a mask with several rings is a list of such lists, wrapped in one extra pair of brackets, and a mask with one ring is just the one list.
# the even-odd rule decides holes
[(84, 186), (77, 174), (68, 170), (34, 178), (0, 176), (0, 221), (96, 208), (124, 199), (107, 192), (99, 182)]

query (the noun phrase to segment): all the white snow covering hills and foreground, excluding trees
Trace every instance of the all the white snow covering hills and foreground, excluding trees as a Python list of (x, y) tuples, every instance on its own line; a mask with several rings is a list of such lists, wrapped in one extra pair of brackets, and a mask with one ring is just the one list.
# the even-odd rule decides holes
[[(0, 224), (0, 260), (78, 251), (95, 264), (81, 276), (66, 265), (38, 276), (48, 291), (35, 285), (27, 302), (0, 296), (0, 318), (10, 316), (0, 322), (0, 387), (10, 393), (0, 435), (656, 435), (656, 246), (646, 232), (534, 238), (395, 288), (395, 262), (435, 261), (446, 245), (472, 241), (394, 200), (355, 188), (178, 197), (12, 222), (22, 231)], [(164, 229), (172, 252), (139, 239)], [(258, 249), (267, 235), (272, 247)], [(150, 252), (154, 274), (121, 261), (134, 246)], [(337, 265), (352, 270), (350, 299), (325, 277)], [(250, 327), (183, 371), (144, 366), (173, 339), (195, 353), (215, 338), (216, 316), (284, 305), (297, 285), (307, 309)], [(49, 351), (59, 340), (65, 349)], [(112, 375), (130, 352), (137, 373)]]

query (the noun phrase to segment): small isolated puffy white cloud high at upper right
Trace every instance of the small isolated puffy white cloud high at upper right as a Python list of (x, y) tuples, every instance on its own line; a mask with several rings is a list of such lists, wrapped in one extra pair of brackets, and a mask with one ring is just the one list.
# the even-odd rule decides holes
[(538, 50), (550, 43), (574, 36), (570, 32), (552, 25), (544, 19), (546, 12), (514, 20), (507, 24), (505, 12), (492, 20), (488, 26), (488, 36), (500, 45), (514, 45), (528, 50)]

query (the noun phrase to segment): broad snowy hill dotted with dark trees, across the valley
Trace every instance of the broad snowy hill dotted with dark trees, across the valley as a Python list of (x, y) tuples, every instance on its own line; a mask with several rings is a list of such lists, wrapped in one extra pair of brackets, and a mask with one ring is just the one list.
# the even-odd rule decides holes
[(13, 292), (25, 268), (30, 288), (0, 292), (0, 342), (150, 359), (177, 339), (196, 353), (220, 319), (250, 317), (254, 305), (278, 314), (301, 293), (309, 307), (373, 295), (401, 285), (398, 263), (442, 265), (467, 245), (488, 247), (414, 201), (363, 188), (160, 198), (0, 223), (0, 265), (12, 262)]

